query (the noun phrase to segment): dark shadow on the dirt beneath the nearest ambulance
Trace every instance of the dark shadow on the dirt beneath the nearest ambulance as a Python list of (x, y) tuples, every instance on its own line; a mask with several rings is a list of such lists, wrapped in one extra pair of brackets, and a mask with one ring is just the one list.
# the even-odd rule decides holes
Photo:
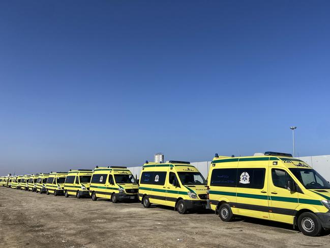
[[(220, 219), (220, 217), (219, 217), (219, 219)], [(252, 217), (251, 218), (250, 217), (235, 217), (234, 219), (232, 219), (231, 222), (246, 222), (249, 224), (256, 224), (256, 225), (260, 225), (260, 226), (274, 227), (280, 233), (292, 233), (292, 232), (301, 233), (297, 227), (295, 229), (293, 229), (293, 226), (290, 224), (267, 221), (266, 219), (258, 219), (258, 218), (252, 218)], [(323, 232), (320, 234), (320, 237), (328, 236), (328, 235), (330, 235), (330, 230), (323, 230)]]

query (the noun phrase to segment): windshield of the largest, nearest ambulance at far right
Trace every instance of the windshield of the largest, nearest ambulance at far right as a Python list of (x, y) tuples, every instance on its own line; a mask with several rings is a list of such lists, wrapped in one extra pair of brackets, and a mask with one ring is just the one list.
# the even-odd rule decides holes
[(290, 171), (307, 189), (330, 189), (330, 183), (315, 170), (290, 169)]

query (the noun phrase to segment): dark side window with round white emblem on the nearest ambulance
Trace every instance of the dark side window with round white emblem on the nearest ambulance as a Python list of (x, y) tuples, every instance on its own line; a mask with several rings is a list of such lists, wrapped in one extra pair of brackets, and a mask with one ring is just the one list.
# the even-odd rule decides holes
[(237, 187), (263, 188), (266, 169), (238, 169)]

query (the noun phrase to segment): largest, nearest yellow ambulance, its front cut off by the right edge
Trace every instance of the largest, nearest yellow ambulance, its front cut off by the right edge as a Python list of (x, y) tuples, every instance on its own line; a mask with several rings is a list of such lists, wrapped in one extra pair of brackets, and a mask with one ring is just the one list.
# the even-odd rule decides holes
[(292, 224), (307, 236), (330, 228), (330, 184), (291, 154), (220, 157), (208, 173), (208, 204), (229, 222), (249, 216)]

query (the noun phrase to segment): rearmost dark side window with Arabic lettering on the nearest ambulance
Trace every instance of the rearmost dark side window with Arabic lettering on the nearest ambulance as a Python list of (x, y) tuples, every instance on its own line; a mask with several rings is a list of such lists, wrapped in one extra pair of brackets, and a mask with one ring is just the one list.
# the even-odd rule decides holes
[(237, 169), (214, 169), (211, 175), (211, 185), (236, 187)]

